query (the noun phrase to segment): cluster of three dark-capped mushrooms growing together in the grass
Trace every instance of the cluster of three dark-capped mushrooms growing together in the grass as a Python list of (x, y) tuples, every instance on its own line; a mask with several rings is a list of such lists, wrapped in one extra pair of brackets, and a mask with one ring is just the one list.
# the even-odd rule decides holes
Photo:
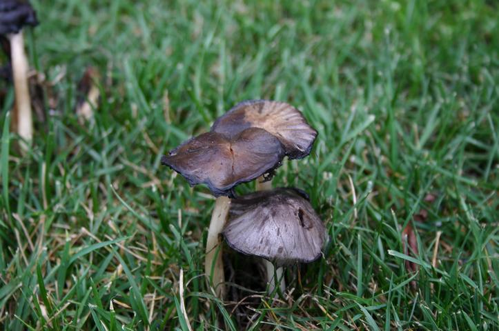
[[(219, 234), (238, 252), (277, 266), (320, 257), (324, 225), (304, 192), (269, 190), (266, 185), (267, 190), (236, 197), (234, 190), (239, 183), (259, 177), (268, 183), (284, 157), (309, 155), (315, 137), (317, 132), (302, 113), (288, 103), (244, 101), (219, 117), (210, 132), (162, 157), (162, 164), (182, 174), (191, 186), (206, 184), (217, 197), (206, 239), (205, 272), (219, 297), (224, 295)], [(267, 265), (267, 270), (272, 279), (273, 268)]]

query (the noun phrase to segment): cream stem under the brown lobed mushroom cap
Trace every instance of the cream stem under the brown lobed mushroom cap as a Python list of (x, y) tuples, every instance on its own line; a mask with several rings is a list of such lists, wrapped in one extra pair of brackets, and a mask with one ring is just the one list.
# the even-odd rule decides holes
[(218, 234), (222, 232), (227, 219), (231, 199), (218, 197), (211, 214), (208, 237), (206, 238), (206, 257), (204, 259), (204, 273), (209, 277), (215, 288), (217, 297), (223, 298), (224, 288), (224, 261), (222, 261), (222, 245), (219, 245)]

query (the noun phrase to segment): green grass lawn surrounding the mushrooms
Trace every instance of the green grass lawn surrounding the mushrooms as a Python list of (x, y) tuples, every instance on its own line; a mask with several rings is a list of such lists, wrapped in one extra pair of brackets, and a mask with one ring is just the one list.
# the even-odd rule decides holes
[[(496, 1), (109, 2), (33, 1), (55, 105), (25, 156), (2, 83), (3, 330), (499, 330)], [(101, 103), (80, 125), (90, 65)], [(331, 240), (277, 299), (227, 251), (221, 302), (203, 274), (214, 200), (159, 159), (258, 98), (317, 128), (273, 183), (309, 192)]]

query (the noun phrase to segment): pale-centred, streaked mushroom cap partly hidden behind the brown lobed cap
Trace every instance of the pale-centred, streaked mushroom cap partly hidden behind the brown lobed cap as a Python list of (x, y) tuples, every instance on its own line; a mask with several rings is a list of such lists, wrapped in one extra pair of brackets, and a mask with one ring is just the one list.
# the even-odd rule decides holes
[(288, 103), (268, 100), (250, 100), (238, 103), (219, 117), (212, 132), (233, 137), (246, 128), (262, 128), (280, 140), (290, 159), (302, 159), (310, 154), (315, 131), (297, 110)]

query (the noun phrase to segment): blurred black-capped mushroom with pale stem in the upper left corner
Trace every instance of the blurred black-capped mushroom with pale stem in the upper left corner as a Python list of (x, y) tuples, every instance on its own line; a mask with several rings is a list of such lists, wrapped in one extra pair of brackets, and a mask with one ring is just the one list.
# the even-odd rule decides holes
[(0, 2), (0, 34), (10, 41), (10, 58), (14, 78), (15, 108), (13, 125), (23, 139), (21, 148), (28, 149), (33, 136), (30, 91), (28, 87), (28, 58), (24, 51), (23, 26), (38, 24), (35, 10), (30, 3), (19, 0)]

